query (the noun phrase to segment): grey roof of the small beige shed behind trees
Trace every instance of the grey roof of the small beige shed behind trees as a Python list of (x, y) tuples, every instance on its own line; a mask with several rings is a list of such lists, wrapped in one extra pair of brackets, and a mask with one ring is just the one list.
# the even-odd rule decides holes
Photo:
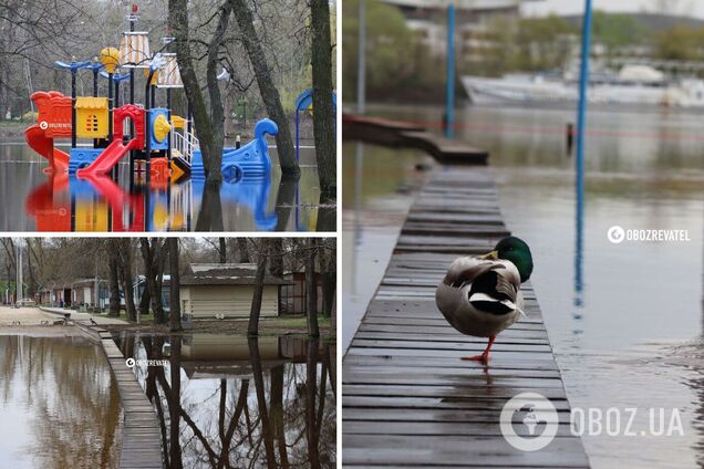
[[(182, 285), (253, 285), (257, 264), (191, 263), (180, 278)], [(266, 274), (265, 285), (291, 285), (280, 277)]]

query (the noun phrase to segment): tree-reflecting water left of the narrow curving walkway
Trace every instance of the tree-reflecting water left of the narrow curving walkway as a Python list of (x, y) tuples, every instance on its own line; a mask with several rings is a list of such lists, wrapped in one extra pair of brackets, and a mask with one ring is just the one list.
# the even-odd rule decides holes
[(117, 386), (83, 337), (0, 335), (0, 467), (115, 468)]

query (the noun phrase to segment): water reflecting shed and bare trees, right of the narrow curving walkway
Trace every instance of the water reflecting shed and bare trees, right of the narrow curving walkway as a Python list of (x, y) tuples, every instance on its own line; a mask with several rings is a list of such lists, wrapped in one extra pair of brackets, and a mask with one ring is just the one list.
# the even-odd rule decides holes
[(334, 344), (127, 333), (116, 342), (125, 356), (168, 361), (134, 368), (166, 467), (335, 466)]

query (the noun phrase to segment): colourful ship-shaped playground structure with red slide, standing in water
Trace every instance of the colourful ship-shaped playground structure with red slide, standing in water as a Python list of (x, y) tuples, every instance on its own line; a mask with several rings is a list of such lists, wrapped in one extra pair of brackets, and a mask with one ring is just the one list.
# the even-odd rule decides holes
[[(127, 17), (120, 50), (105, 48), (100, 60), (55, 62), (71, 73), (71, 96), (37, 92), (31, 100), (38, 108), (38, 123), (24, 135), (29, 146), (49, 161), (45, 173), (68, 173), (70, 178), (95, 181), (111, 174), (128, 158), (130, 174), (144, 173), (147, 186), (163, 186), (188, 177), (205, 179), (206, 173), (198, 138), (190, 116), (172, 114), (172, 91), (183, 87), (175, 53), (149, 53), (147, 32), (134, 31), (137, 8)], [(168, 44), (170, 38), (165, 38)], [(104, 69), (104, 71), (102, 71)], [(128, 73), (116, 73), (126, 69)], [(135, 70), (146, 76), (144, 104), (135, 103)], [(93, 73), (93, 95), (76, 96), (76, 75)], [(107, 96), (99, 96), (99, 76), (107, 80)], [(118, 105), (120, 84), (130, 82), (130, 103)], [(157, 106), (156, 90), (166, 91), (166, 106)], [(188, 113), (190, 114), (190, 113)], [(255, 126), (255, 139), (238, 148), (224, 148), (222, 174), (228, 183), (268, 176), (270, 157), (267, 134), (276, 135), (277, 125), (262, 119)], [(71, 138), (70, 152), (54, 140)], [(81, 144), (79, 144), (81, 140)]]

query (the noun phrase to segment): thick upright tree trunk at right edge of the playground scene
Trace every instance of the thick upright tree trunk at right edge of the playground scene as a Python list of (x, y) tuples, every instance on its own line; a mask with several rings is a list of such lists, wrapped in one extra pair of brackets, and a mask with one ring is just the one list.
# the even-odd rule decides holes
[(311, 65), (313, 67), (313, 136), (321, 196), (334, 200), (337, 194), (337, 150), (332, 107), (332, 44), (330, 43), (330, 3), (310, 0)]

